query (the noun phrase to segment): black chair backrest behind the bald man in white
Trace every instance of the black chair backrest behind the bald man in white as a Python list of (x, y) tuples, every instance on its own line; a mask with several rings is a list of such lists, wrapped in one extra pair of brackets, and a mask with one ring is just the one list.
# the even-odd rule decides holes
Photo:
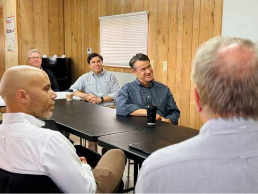
[(48, 176), (17, 174), (0, 169), (0, 193), (59, 194), (63, 192)]

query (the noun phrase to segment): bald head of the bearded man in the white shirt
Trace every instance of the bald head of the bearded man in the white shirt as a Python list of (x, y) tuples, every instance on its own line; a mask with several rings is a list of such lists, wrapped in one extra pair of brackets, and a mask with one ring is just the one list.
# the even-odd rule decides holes
[[(41, 69), (30, 66), (8, 69), (0, 82), (0, 93), (8, 113), (23, 112), (40, 118), (49, 117), (50, 112), (52, 115), (53, 107), (48, 108), (53, 106), (56, 94), (50, 88), (48, 75)], [(44, 111), (48, 114), (41, 115)]]

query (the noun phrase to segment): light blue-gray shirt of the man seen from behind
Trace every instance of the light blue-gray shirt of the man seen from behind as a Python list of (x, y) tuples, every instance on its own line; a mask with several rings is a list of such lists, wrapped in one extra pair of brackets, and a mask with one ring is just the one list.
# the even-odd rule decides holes
[(198, 136), (155, 151), (135, 193), (258, 193), (258, 121), (212, 119)]

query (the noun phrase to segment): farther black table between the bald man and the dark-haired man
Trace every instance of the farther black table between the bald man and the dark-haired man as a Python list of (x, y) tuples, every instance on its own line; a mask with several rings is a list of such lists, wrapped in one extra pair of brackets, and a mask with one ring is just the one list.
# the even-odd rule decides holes
[[(143, 130), (149, 128), (146, 117), (119, 116), (116, 110), (83, 101), (55, 100), (52, 118), (63, 131), (80, 138), (98, 142), (104, 135)], [(156, 127), (163, 127), (160, 122)], [(166, 123), (172, 126), (169, 123)]]

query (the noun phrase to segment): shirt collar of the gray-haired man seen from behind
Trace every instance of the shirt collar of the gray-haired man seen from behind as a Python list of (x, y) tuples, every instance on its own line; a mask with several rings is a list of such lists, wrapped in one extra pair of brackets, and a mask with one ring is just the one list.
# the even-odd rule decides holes
[(258, 131), (258, 121), (244, 119), (242, 117), (230, 117), (228, 119), (210, 119), (201, 127), (200, 134), (233, 134)]

